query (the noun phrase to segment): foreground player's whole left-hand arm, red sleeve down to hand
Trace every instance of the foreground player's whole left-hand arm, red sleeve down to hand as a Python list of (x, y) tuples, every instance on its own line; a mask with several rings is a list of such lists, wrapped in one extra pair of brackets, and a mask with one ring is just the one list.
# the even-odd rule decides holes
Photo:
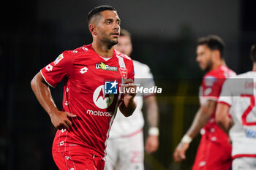
[(48, 112), (51, 122), (58, 129), (69, 128), (72, 123), (68, 119), (68, 116), (75, 117), (75, 115), (69, 112), (59, 111), (50, 94), (49, 85), (56, 87), (64, 77), (69, 78), (72, 75), (72, 69), (72, 52), (65, 51), (59, 55), (55, 61), (41, 69), (41, 71), (34, 76), (33, 80), (31, 80), (31, 88), (37, 100), (45, 111)]

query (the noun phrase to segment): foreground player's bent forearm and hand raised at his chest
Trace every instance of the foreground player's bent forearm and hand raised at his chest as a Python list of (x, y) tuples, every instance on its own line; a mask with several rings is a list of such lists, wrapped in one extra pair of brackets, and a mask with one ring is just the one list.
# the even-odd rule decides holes
[[(124, 101), (121, 101), (121, 104), (119, 104), (119, 109), (125, 117), (128, 117), (132, 115), (137, 107), (135, 101), (137, 86), (132, 79), (124, 79), (123, 84), (124, 88), (126, 88), (127, 90), (124, 90)], [(131, 90), (132, 88), (134, 89), (133, 92)], [(129, 93), (127, 93), (127, 91), (129, 91)]]

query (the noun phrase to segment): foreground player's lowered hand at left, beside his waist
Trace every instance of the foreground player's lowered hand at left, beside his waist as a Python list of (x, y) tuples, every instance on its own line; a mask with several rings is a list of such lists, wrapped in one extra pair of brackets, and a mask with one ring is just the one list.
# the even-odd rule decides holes
[(68, 129), (71, 127), (72, 122), (68, 117), (76, 117), (76, 115), (69, 112), (54, 112), (50, 115), (50, 120), (53, 123), (54, 127), (61, 130), (62, 128)]

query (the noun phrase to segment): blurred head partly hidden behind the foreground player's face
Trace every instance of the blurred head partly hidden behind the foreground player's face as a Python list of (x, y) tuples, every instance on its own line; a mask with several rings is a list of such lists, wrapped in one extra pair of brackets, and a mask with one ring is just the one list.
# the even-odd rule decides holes
[(115, 48), (128, 56), (132, 53), (132, 38), (129, 31), (121, 29), (118, 44), (115, 45)]

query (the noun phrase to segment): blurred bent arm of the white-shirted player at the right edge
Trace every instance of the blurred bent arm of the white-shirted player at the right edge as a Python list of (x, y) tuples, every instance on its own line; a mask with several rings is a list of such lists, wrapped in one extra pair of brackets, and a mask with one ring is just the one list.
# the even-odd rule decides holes
[(218, 123), (219, 127), (228, 134), (228, 131), (233, 125), (233, 120), (228, 116), (228, 111), (230, 106), (219, 102), (217, 104), (216, 110), (216, 122)]

